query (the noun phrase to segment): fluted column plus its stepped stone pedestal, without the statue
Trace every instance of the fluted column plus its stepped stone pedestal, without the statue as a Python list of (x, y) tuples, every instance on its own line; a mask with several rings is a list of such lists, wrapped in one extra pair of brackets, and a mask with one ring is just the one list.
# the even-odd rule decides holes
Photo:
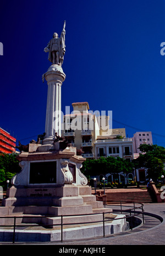
[[(21, 171), (12, 179), (13, 186), (7, 190), (0, 215), (21, 215), (22, 222), (51, 224), (56, 223), (57, 216), (66, 216), (65, 221), (72, 223), (78, 215), (76, 221), (82, 222), (84, 218), (79, 215), (111, 209), (103, 208), (103, 203), (91, 194), (87, 179), (80, 171), (85, 158), (76, 155), (76, 148), (69, 147), (61, 138), (61, 86), (65, 79), (62, 67), (51, 65), (44, 77), (48, 85), (45, 137), (41, 144), (30, 143), (28, 151), (19, 154)], [(27, 221), (28, 215), (34, 218)], [(55, 219), (40, 219), (35, 215), (52, 215)], [(95, 216), (86, 216), (86, 220), (93, 220)], [(97, 216), (99, 220), (100, 216)]]

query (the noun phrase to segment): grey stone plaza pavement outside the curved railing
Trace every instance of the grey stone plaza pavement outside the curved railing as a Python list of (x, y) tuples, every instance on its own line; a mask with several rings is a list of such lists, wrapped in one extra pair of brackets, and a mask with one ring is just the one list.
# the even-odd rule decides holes
[[(111, 206), (117, 209), (118, 206)], [(133, 229), (124, 233), (118, 233), (105, 238), (87, 239), (81, 241), (69, 242), (46, 242), (46, 243), (20, 243), (20, 244), (37, 244), (37, 245), (164, 245), (165, 244), (165, 203), (146, 203), (144, 211), (153, 215), (161, 216), (163, 221), (156, 218), (144, 216), (146, 226)], [(19, 244), (19, 243), (17, 243)]]

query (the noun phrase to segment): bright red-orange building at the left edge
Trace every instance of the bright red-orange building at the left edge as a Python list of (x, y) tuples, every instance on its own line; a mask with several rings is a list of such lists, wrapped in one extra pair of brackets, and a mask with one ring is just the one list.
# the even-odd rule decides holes
[(0, 128), (0, 154), (12, 154), (15, 152), (16, 139), (8, 132)]

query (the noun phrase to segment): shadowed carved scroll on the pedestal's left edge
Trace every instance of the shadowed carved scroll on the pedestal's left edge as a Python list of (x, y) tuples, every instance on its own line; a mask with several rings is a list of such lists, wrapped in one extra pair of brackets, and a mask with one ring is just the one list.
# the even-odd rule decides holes
[(27, 161), (21, 161), (19, 163), (19, 166), (21, 167), (20, 173), (16, 174), (13, 176), (11, 183), (14, 186), (19, 186), (19, 185), (27, 185), (27, 168), (28, 168), (28, 163)]

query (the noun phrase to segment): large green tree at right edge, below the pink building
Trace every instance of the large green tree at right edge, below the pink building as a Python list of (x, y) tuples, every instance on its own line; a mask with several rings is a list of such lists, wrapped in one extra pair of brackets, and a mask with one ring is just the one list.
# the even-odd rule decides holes
[(149, 179), (154, 181), (159, 179), (161, 175), (165, 175), (165, 148), (144, 144), (140, 145), (139, 149), (141, 151), (139, 158), (133, 160), (135, 168), (147, 168)]

